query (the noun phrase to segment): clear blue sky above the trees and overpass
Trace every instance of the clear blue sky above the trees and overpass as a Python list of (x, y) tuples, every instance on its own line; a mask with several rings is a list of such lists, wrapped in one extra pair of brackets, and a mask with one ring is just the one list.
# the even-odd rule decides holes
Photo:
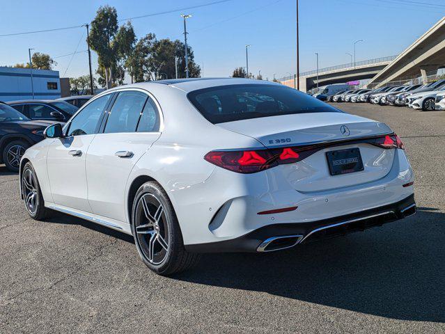
[[(187, 21), (188, 42), (204, 77), (229, 77), (235, 67), (261, 71), (264, 79), (296, 72), (296, 0), (228, 0), (189, 10), (181, 8), (217, 0), (0, 0), (0, 35), (79, 26), (91, 22), (97, 8), (108, 4), (120, 24), (132, 19), (136, 36), (155, 33), (158, 39), (183, 39), (181, 13)], [(350, 63), (357, 43), (357, 61), (399, 54), (445, 13), (443, 0), (299, 0), (300, 72)], [(88, 74), (86, 29), (0, 36), (0, 66), (28, 61), (28, 48), (49, 54), (61, 77)], [(77, 54), (72, 54), (80, 51)], [(93, 71), (97, 56), (92, 51)]]

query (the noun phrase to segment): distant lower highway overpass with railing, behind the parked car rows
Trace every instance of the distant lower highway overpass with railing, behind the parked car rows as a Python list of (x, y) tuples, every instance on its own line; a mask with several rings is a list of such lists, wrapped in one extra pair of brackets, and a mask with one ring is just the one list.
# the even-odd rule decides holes
[[(328, 84), (341, 84), (347, 81), (371, 79), (380, 73), (396, 56), (370, 59), (368, 61), (358, 61), (332, 67), (325, 67), (318, 70), (318, 86)], [(295, 87), (294, 77), (279, 79), (281, 84)], [(317, 86), (317, 71), (301, 73), (299, 76), (299, 89), (303, 92)]]

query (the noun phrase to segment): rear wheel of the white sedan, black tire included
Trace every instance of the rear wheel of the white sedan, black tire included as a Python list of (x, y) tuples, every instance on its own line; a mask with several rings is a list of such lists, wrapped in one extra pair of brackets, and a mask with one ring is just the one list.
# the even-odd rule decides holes
[(169, 276), (198, 262), (198, 254), (185, 250), (173, 205), (157, 182), (146, 182), (136, 191), (131, 228), (139, 256), (155, 273)]

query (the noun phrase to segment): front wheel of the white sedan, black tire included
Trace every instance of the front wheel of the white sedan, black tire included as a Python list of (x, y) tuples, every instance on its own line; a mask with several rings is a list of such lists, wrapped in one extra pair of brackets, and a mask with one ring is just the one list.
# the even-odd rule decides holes
[(51, 210), (45, 207), (45, 200), (40, 190), (36, 171), (31, 162), (27, 162), (23, 167), (20, 182), (22, 185), (23, 202), (29, 216), (37, 221), (49, 218)]

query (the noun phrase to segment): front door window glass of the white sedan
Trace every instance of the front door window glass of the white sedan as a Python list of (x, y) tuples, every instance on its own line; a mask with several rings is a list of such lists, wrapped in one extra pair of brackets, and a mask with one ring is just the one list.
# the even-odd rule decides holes
[(112, 94), (107, 94), (88, 104), (72, 120), (68, 129), (68, 136), (79, 136), (81, 134), (94, 134), (97, 122), (102, 116)]

